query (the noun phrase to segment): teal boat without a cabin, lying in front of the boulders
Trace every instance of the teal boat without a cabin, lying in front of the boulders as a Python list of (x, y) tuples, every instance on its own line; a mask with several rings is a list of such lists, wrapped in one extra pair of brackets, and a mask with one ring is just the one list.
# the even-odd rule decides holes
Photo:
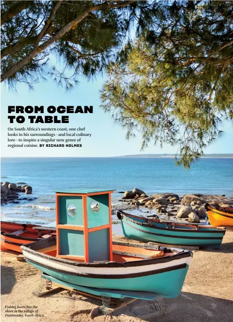
[(224, 227), (160, 221), (118, 211), (124, 236), (129, 239), (172, 245), (205, 246), (219, 249)]

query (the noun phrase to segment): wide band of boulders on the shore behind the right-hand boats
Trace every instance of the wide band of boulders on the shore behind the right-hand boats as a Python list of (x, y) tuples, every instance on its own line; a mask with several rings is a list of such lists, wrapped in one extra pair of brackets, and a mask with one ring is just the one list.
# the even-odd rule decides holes
[[(152, 216), (150, 215), (150, 210), (156, 210), (156, 213), (158, 215), (162, 214), (166, 220), (176, 219), (190, 223), (199, 223), (207, 218), (205, 203), (210, 203), (214, 206), (233, 207), (233, 197), (227, 198), (225, 195), (194, 193), (179, 196), (175, 193), (156, 193), (148, 196), (138, 188), (119, 193), (124, 193), (124, 197), (119, 201), (124, 202), (122, 208), (125, 210), (147, 208), (149, 210), (147, 211), (149, 213), (148, 217)], [(127, 207), (125, 203), (127, 203)], [(158, 218), (158, 215), (153, 216)]]

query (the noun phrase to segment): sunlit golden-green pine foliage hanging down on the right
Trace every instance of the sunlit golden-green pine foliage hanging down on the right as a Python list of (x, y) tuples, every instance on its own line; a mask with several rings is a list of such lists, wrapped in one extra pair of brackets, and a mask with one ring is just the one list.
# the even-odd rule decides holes
[(233, 119), (233, 2), (167, 1), (151, 30), (132, 43), (127, 64), (112, 64), (102, 108), (127, 138), (177, 146), (190, 164)]

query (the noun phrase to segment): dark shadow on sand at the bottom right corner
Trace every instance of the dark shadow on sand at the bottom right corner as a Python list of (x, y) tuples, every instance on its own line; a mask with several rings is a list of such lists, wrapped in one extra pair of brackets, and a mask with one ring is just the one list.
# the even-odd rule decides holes
[(113, 315), (121, 314), (141, 322), (232, 322), (233, 301), (181, 292), (176, 299), (138, 300)]

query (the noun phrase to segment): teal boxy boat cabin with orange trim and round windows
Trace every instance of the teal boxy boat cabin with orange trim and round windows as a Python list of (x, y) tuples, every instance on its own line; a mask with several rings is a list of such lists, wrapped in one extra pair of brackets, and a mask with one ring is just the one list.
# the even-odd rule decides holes
[(112, 260), (111, 193), (113, 190), (56, 192), (57, 257)]

